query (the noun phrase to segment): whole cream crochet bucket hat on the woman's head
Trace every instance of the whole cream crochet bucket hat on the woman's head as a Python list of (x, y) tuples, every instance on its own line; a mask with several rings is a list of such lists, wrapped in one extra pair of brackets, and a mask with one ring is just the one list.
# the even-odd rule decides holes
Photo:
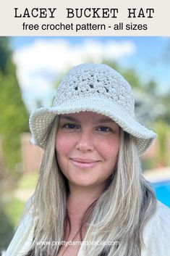
[(41, 107), (30, 115), (31, 142), (44, 148), (56, 115), (93, 111), (114, 120), (137, 141), (143, 154), (156, 138), (135, 120), (135, 99), (131, 87), (122, 75), (101, 64), (82, 64), (73, 67), (61, 80), (53, 107)]

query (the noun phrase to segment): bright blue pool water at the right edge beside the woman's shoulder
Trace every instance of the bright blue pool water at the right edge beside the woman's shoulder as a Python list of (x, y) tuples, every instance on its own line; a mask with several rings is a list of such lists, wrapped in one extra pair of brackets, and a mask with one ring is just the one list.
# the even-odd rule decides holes
[(156, 198), (170, 207), (170, 181), (151, 183), (151, 186), (156, 192)]

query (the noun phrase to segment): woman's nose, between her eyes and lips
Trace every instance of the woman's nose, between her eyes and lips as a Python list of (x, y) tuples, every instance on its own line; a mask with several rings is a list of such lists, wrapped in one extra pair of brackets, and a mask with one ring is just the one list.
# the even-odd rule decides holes
[(93, 135), (89, 131), (82, 131), (78, 138), (76, 149), (81, 152), (89, 152), (94, 149)]

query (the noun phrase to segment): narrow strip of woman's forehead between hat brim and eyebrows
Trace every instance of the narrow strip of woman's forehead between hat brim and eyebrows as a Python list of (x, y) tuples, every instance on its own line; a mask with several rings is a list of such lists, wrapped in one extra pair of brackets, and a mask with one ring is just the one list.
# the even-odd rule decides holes
[(111, 120), (110, 117), (106, 117), (105, 115), (101, 115), (96, 112), (90, 112), (90, 111), (64, 114), (64, 115), (60, 115), (60, 118), (67, 119), (67, 120), (75, 120), (79, 122), (83, 120), (88, 120), (88, 121), (93, 120), (93, 122), (114, 123), (114, 121)]

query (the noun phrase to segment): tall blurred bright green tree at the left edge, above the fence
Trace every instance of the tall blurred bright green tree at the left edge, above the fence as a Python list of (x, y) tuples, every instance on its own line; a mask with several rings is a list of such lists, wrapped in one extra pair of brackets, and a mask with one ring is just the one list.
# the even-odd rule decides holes
[[(0, 46), (0, 49), (2, 51), (3, 47)], [(7, 57), (9, 58), (9, 54)], [(20, 163), (20, 133), (28, 131), (28, 115), (11, 57), (3, 63), (1, 70), (4, 69), (5, 72), (0, 73), (0, 136), (4, 166), (7, 170), (13, 170), (14, 173), (17, 164)]]

